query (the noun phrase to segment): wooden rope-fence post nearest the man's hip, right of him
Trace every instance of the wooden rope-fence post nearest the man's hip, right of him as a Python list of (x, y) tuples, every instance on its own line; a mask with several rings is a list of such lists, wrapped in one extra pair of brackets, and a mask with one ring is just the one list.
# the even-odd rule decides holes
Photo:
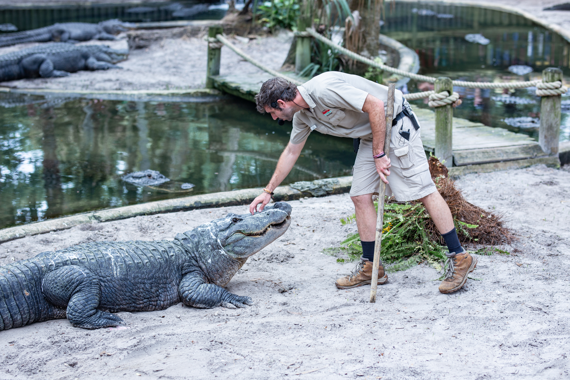
[[(445, 76), (435, 80), (435, 93), (447, 91), (453, 94), (453, 82)], [(440, 161), (445, 160), (446, 167), (453, 166), (453, 107), (447, 104), (442, 107), (435, 107), (435, 156)]]

